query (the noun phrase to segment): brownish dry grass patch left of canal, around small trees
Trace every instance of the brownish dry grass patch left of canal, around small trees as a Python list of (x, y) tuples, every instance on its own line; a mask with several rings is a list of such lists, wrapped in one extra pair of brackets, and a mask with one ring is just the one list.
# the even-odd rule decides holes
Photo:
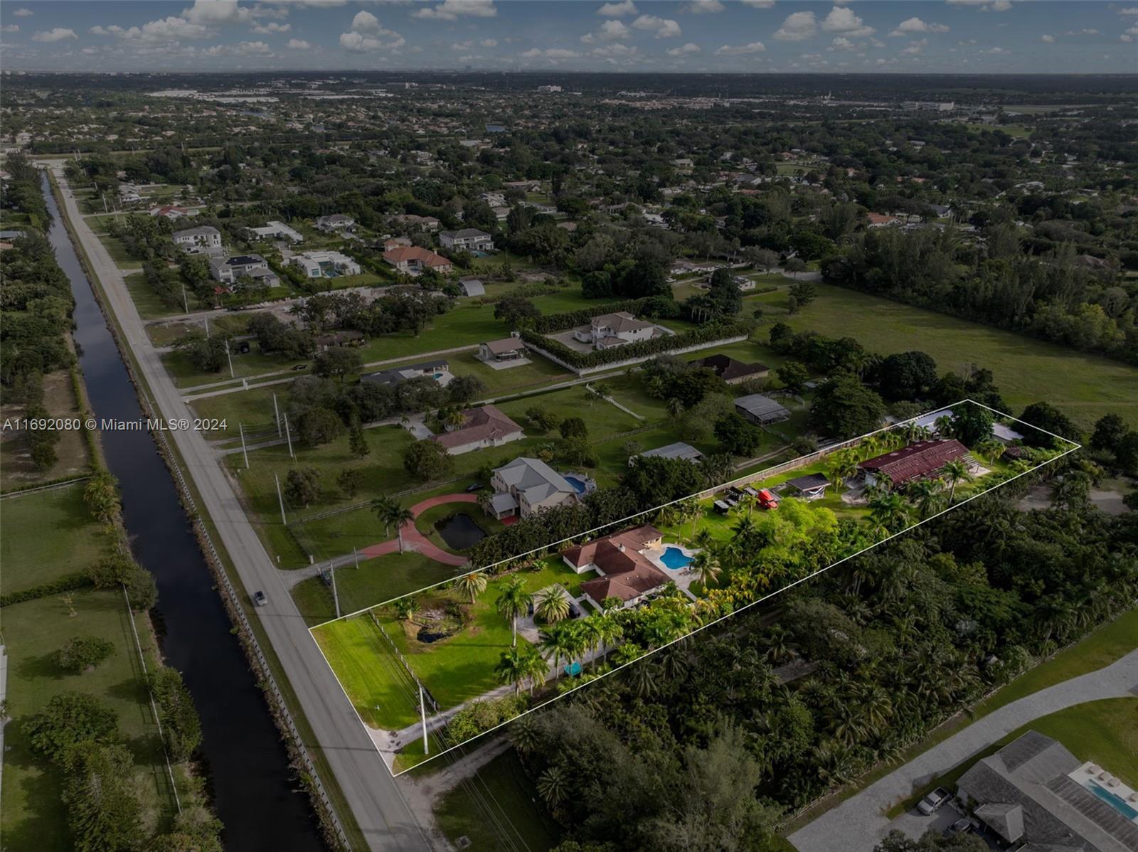
[[(79, 400), (69, 370), (56, 370), (43, 377), (43, 406), (53, 417), (79, 416)], [(8, 403), (0, 406), (0, 420), (24, 416), (24, 406)], [(16, 430), (5, 430), (0, 437), (0, 489), (16, 490), (52, 482), (89, 472), (90, 453), (86, 439), (79, 429), (57, 432), (56, 463), (39, 470), (32, 463), (32, 447), (27, 436)]]

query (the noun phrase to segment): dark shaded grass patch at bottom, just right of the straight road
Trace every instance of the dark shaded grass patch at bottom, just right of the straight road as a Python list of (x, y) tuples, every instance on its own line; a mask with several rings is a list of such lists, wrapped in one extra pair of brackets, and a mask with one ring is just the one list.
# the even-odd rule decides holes
[[(497, 819), (492, 820), (487, 810)], [(452, 845), (467, 837), (471, 852), (502, 849), (497, 825), (506, 826), (511, 836), (516, 830), (530, 852), (547, 852), (561, 837), (560, 826), (536, 801), (533, 783), (512, 751), (481, 767), (468, 784), (444, 793), (435, 803), (435, 819)]]

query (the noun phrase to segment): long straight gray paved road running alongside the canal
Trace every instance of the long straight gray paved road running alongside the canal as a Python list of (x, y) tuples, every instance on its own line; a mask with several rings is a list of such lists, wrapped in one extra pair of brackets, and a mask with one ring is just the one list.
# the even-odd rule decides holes
[[(102, 282), (109, 307), (139, 362), (155, 404), (167, 420), (192, 416), (182, 402), (182, 392), (174, 387), (150, 345), (118, 268), (67, 191), (63, 164), (56, 163), (53, 171), (63, 189), (67, 217)], [(217, 463), (217, 456), (199, 432), (176, 431), (170, 432), (170, 436), (182, 455), (185, 472), (193, 478), (201, 494), (204, 508), (216, 524), (221, 543), (229, 552), (241, 584), (247, 590), (264, 589), (269, 596), (269, 605), (257, 609), (256, 614), (369, 846), (384, 852), (430, 850), (431, 844), (407, 806), (399, 783), (376, 753), (355, 710), (308, 634), (277, 568), (246, 520), (233, 486)], [(203, 576), (201, 581), (211, 582), (211, 578)]]

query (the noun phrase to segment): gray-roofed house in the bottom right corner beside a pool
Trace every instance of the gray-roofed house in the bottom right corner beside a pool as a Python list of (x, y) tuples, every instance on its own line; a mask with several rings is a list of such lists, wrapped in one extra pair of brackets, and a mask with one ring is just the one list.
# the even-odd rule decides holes
[(957, 793), (989, 830), (1016, 849), (1132, 852), (1138, 824), (1111, 802), (1135, 809), (1123, 799), (1129, 791), (1114, 784), (1122, 795), (1112, 792), (1111, 776), (1099, 767), (1029, 730), (976, 761), (960, 776)]

